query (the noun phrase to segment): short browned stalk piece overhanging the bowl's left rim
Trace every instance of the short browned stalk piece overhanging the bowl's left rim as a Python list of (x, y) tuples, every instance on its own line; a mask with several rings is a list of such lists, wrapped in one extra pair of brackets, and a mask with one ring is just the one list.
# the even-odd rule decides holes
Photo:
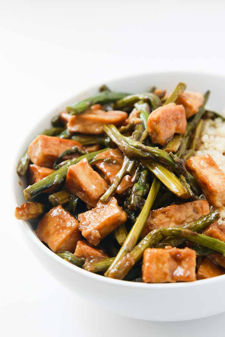
[(24, 203), (20, 207), (16, 207), (15, 217), (18, 220), (35, 219), (42, 215), (45, 211), (45, 207), (39, 203)]

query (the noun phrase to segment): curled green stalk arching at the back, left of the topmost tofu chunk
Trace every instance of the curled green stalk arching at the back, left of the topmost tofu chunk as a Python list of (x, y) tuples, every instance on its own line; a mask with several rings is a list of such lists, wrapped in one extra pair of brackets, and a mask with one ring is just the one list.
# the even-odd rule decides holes
[(129, 95), (119, 99), (114, 103), (114, 109), (122, 109), (125, 108), (125, 106), (133, 106), (136, 102), (141, 100), (149, 102), (152, 110), (155, 110), (162, 105), (158, 96), (150, 92), (146, 92), (142, 94)]

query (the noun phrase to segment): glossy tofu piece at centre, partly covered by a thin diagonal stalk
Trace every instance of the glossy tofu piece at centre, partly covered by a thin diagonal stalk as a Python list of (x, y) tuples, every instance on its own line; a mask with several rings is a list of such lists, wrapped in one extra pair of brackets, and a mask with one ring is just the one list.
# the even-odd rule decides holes
[[(99, 153), (95, 159), (103, 159), (96, 161), (95, 166), (105, 179), (108, 185), (113, 183), (113, 179), (119, 172), (123, 164), (123, 154), (119, 149), (109, 149)], [(111, 162), (106, 162), (104, 159), (110, 159)], [(121, 195), (132, 188), (134, 185), (133, 176), (126, 175), (119, 184), (116, 192)]]

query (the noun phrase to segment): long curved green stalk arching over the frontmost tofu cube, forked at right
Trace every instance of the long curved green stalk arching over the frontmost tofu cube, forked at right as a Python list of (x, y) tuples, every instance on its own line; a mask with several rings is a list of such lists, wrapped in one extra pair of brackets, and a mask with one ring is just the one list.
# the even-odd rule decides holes
[[(156, 245), (165, 236), (174, 237), (175, 235), (181, 237), (181, 239), (188, 239), (190, 241), (200, 243), (201, 245), (208, 247), (210, 249), (214, 249), (216, 251), (221, 252), (221, 250), (223, 250), (225, 254), (224, 242), (217, 239), (213, 239), (213, 241), (208, 240), (207, 238), (209, 237), (193, 232), (193, 230), (196, 229), (198, 230), (199, 227), (203, 228), (204, 225), (208, 226), (210, 223), (212, 223), (211, 222), (212, 218), (213, 218), (212, 213), (209, 213), (207, 216), (205, 216), (204, 219), (202, 220), (199, 219), (189, 224), (186, 224), (184, 228), (169, 227), (169, 228), (154, 229), (153, 231), (148, 233), (146, 237), (142, 239), (131, 252), (128, 252), (125, 256), (123, 256), (123, 258), (118, 263), (116, 264), (114, 263), (114, 269), (111, 271), (109, 277), (123, 279), (125, 275), (129, 272), (129, 270), (131, 270), (131, 268), (135, 265), (135, 263), (142, 258), (145, 249)], [(192, 230), (189, 228), (191, 228)]]

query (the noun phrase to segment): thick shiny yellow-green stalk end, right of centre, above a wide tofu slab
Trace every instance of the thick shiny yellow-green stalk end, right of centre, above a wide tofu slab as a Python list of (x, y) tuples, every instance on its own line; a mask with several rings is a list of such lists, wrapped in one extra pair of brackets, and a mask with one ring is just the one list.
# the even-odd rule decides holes
[(141, 160), (141, 163), (151, 171), (171, 192), (181, 198), (189, 198), (192, 194), (179, 179), (166, 167), (149, 160)]

